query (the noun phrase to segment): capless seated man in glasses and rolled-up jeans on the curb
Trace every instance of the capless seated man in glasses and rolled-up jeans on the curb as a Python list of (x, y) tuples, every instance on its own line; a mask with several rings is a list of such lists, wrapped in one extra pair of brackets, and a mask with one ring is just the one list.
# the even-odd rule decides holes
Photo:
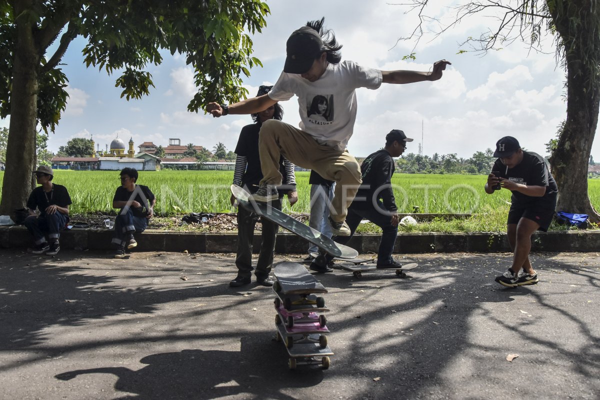
[(115, 218), (115, 233), (112, 243), (116, 245), (115, 258), (125, 257), (125, 246), (132, 249), (137, 246), (134, 232), (142, 233), (148, 227), (148, 219), (154, 215), (156, 197), (147, 186), (136, 185), (137, 170), (121, 170), (121, 186), (116, 188), (113, 208), (119, 208)]

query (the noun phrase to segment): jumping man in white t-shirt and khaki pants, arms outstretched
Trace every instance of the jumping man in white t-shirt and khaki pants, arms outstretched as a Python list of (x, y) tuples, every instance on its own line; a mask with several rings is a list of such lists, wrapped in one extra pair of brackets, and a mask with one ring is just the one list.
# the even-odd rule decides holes
[[(308, 22), (287, 40), (287, 57), (279, 79), (268, 94), (239, 103), (209, 103), (206, 111), (214, 117), (252, 114), (278, 101), (298, 96), (300, 129), (281, 121), (265, 121), (260, 128), (259, 152), (263, 179), (254, 193), (255, 201), (277, 200), (281, 185), (280, 156), (325, 179), (337, 182), (328, 222), (332, 233), (349, 236), (345, 222), (347, 207), (361, 184), (360, 167), (346, 151), (356, 119), (356, 88), (377, 89), (382, 83), (413, 83), (438, 80), (448, 61), (433, 64), (433, 71), (380, 71), (353, 61), (341, 61), (341, 45), (325, 18)], [(315, 107), (313, 106), (313, 100)], [(312, 110), (314, 108), (314, 110)]]

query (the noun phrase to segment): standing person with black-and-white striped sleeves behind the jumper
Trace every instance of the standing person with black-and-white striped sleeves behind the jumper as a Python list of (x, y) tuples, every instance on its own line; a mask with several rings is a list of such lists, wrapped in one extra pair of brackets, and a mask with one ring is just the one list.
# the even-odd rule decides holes
[[(271, 90), (271, 86), (260, 86), (258, 96)], [(239, 133), (238, 145), (235, 148), (235, 173), (233, 173), (233, 184), (244, 187), (248, 193), (254, 193), (262, 172), (260, 171), (259, 158), (259, 131), (260, 125), (269, 119), (280, 120), (283, 118), (283, 108), (275, 103), (260, 113), (252, 115), (254, 124), (246, 125)], [(296, 193), (296, 176), (294, 174), (294, 164), (281, 157), (279, 160), (280, 170), (285, 176), (284, 182), (287, 186), (287, 199), (290, 206), (298, 201)], [(283, 192), (283, 191), (282, 191)], [(283, 194), (281, 195), (283, 197)], [(231, 195), (231, 203), (235, 203), (235, 197)], [(272, 207), (281, 210), (281, 199), (272, 202)], [(252, 276), (252, 242), (254, 237), (254, 227), (259, 220), (259, 215), (250, 212), (244, 207), (238, 207), (238, 254), (235, 258), (235, 265), (238, 267), (238, 276), (235, 277), (229, 285), (239, 287), (250, 284)], [(275, 237), (279, 225), (262, 218), (262, 243), (260, 246), (259, 259), (256, 261), (256, 283), (263, 286), (272, 286), (273, 281), (269, 277), (271, 264), (273, 263), (273, 254), (275, 252)]]

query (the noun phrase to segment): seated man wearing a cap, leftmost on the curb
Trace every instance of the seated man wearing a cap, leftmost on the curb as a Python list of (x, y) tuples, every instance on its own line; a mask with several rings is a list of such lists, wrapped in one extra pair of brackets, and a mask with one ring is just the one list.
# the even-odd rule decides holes
[[(41, 185), (35, 188), (27, 200), (29, 216), (23, 224), (34, 236), (33, 254), (46, 253), (47, 255), (58, 254), (61, 246), (58, 242), (61, 236), (60, 230), (64, 228), (69, 219), (69, 205), (71, 197), (62, 185), (52, 183), (54, 172), (47, 166), (39, 166), (34, 172), (35, 181)], [(35, 209), (39, 210), (36, 215)], [(44, 233), (48, 233), (50, 245), (46, 242)]]

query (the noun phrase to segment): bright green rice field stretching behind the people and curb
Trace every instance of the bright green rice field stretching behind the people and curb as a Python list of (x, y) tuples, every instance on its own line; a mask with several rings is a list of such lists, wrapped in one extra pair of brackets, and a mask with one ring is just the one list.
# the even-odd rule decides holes
[[(147, 185), (157, 196), (155, 213), (177, 215), (189, 212), (230, 212), (229, 186), (232, 171), (140, 172), (137, 183)], [(296, 172), (298, 203), (286, 212), (310, 210), (308, 172)], [(4, 172), (0, 172), (4, 178)], [(412, 213), (502, 213), (508, 212), (509, 191), (488, 195), (484, 192), (484, 175), (414, 175), (395, 174), (392, 179), (398, 212)], [(120, 185), (116, 171), (56, 170), (54, 182), (68, 188), (72, 213), (109, 212)], [(592, 204), (600, 206), (600, 180), (589, 180)], [(0, 194), (1, 196), (1, 194)], [(504, 217), (505, 218), (505, 217)]]

